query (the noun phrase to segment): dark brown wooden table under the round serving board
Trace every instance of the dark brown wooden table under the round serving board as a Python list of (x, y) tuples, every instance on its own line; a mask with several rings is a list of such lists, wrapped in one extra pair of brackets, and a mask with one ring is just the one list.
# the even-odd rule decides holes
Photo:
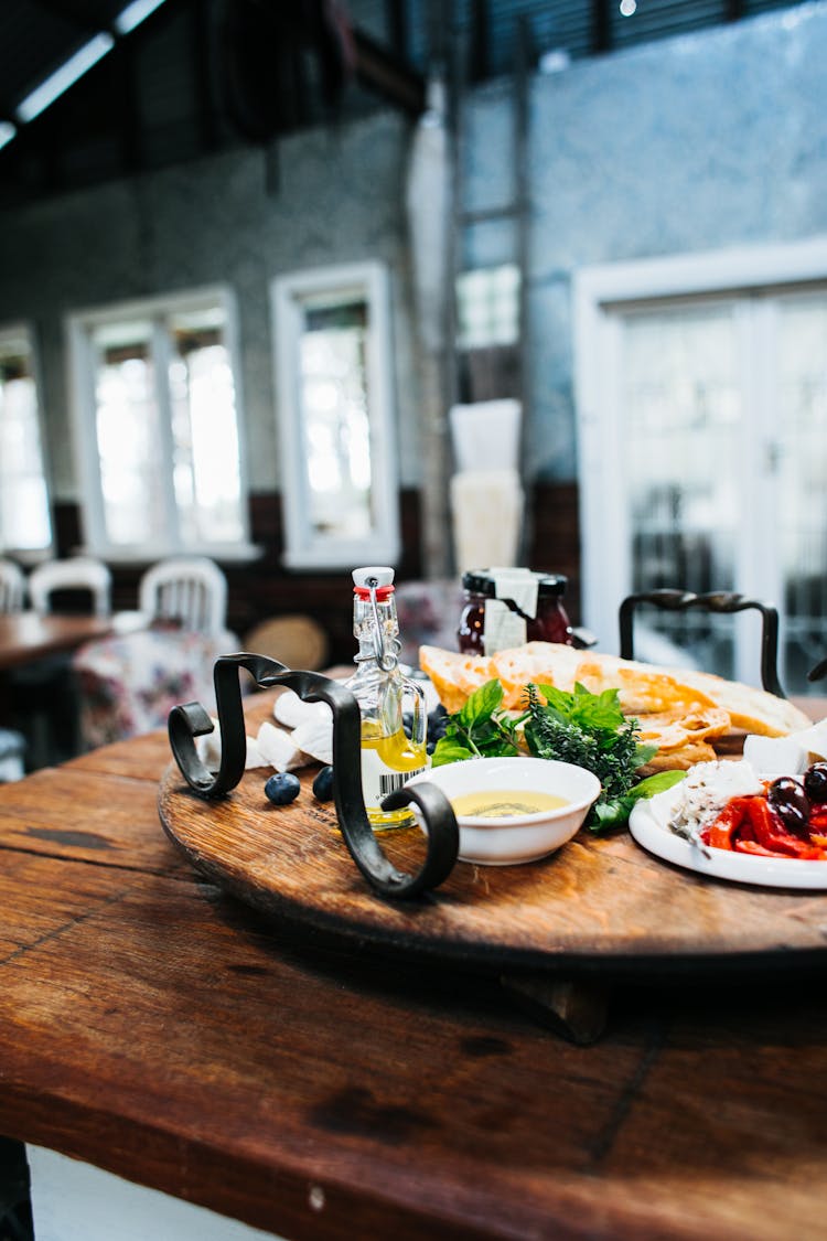
[(0, 1132), (289, 1239), (825, 1237), (820, 975), (642, 980), (578, 1047), (198, 879), (167, 759), (0, 788)]

